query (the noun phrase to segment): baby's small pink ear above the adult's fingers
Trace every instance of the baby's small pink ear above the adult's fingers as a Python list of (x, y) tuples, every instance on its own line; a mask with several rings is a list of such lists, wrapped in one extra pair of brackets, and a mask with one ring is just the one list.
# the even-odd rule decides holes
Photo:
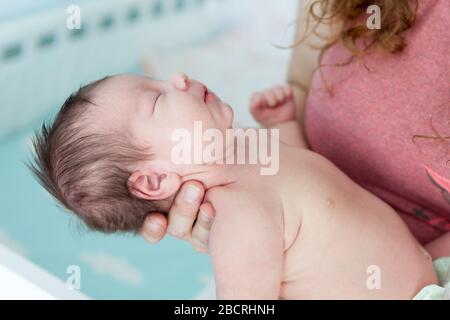
[(135, 197), (146, 200), (167, 199), (181, 186), (180, 176), (174, 172), (135, 171), (128, 178), (128, 190)]

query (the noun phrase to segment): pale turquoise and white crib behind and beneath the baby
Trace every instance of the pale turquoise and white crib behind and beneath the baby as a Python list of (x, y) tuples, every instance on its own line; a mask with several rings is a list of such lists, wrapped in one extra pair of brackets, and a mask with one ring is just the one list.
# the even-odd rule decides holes
[[(0, 270), (14, 271), (5, 262), (12, 259), (33, 265), (51, 279), (34, 284), (45, 292), (63, 288), (78, 270), (77, 292), (58, 289), (54, 298), (214, 298), (209, 258), (189, 244), (166, 237), (151, 246), (131, 235), (88, 232), (63, 212), (24, 165), (30, 137), (80, 85), (143, 73), (143, 65), (159, 78), (185, 71), (202, 79), (236, 106), (239, 124), (253, 125), (251, 90), (284, 81), (289, 57), (265, 36), (279, 30), (281, 17), (295, 17), (296, 1), (14, 3), (2, 8), (0, 1), (0, 246), (7, 248), (0, 254), (13, 252), (0, 257)], [(79, 28), (71, 24), (77, 13)]]

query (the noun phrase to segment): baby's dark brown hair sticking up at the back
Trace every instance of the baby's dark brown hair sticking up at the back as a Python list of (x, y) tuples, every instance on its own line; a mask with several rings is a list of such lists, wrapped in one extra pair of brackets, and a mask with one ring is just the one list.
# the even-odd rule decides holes
[(89, 111), (98, 107), (93, 93), (107, 80), (81, 87), (64, 102), (52, 124), (44, 122), (34, 136), (34, 159), (28, 166), (59, 204), (89, 228), (137, 232), (149, 212), (162, 208), (128, 189), (130, 167), (149, 159), (149, 150), (135, 145), (126, 132), (94, 132), (88, 125)]

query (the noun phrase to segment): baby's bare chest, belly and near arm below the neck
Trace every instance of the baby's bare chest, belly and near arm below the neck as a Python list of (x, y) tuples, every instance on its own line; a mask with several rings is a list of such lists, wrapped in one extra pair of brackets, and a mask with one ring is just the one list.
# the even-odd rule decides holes
[[(393, 209), (313, 152), (280, 153), (277, 175), (251, 171), (207, 191), (219, 298), (409, 299), (436, 283)], [(373, 267), (380, 288), (371, 290)]]

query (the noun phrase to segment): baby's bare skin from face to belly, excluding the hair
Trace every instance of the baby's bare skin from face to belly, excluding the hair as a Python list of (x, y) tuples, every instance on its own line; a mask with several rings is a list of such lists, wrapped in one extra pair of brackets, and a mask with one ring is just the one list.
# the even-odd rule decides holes
[[(254, 164), (173, 163), (174, 130), (195, 121), (231, 128), (231, 107), (202, 83), (184, 74), (164, 82), (117, 76), (96, 102), (108, 105), (97, 115), (103, 129), (126, 123), (152, 148), (129, 179), (136, 197), (173, 199), (188, 180), (205, 185), (216, 210), (209, 250), (219, 299), (410, 299), (437, 283), (430, 256), (396, 212), (301, 142), (280, 144), (275, 175)], [(251, 104), (260, 122), (298, 130), (293, 108), (288, 87)]]

